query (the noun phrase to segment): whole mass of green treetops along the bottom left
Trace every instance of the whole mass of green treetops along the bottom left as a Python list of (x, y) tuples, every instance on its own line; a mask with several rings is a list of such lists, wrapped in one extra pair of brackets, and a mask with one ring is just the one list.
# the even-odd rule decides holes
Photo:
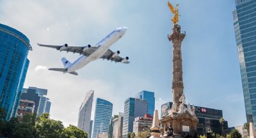
[(48, 113), (43, 113), (37, 118), (33, 115), (23, 115), (22, 121), (11, 118), (4, 121), (5, 111), (0, 108), (0, 137), (7, 138), (87, 138), (87, 133), (74, 125), (64, 128), (61, 121), (49, 118)]

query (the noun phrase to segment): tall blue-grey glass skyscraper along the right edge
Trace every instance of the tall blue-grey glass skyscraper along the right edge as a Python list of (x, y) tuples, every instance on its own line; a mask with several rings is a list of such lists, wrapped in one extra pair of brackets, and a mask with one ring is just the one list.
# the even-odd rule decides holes
[(247, 122), (256, 125), (256, 1), (236, 0), (234, 29)]

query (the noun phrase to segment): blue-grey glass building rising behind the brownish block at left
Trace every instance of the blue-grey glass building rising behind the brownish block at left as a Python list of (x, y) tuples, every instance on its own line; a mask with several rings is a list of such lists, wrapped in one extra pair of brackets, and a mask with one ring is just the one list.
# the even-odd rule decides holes
[(36, 87), (29, 87), (28, 89), (23, 89), (21, 100), (30, 100), (34, 101), (35, 109), (37, 116), (42, 115), (42, 113), (49, 113), (51, 108), (51, 102), (49, 98), (46, 98), (48, 90), (41, 89)]

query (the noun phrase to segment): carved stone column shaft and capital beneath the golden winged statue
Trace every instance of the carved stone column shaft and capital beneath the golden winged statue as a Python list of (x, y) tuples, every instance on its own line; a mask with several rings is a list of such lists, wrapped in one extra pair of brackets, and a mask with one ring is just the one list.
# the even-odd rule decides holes
[(173, 102), (179, 104), (180, 97), (183, 95), (183, 66), (181, 56), (181, 43), (185, 38), (184, 33), (181, 33), (181, 26), (174, 25), (172, 28), (172, 34), (168, 35), (169, 41), (172, 41), (172, 95)]

